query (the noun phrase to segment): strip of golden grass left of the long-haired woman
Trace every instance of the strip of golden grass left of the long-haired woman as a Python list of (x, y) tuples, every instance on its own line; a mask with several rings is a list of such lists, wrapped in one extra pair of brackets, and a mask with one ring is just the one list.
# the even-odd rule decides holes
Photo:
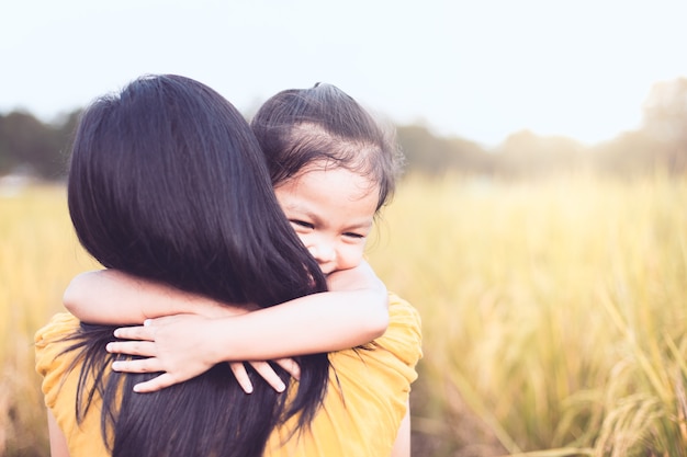
[(59, 186), (0, 196), (0, 456), (46, 456), (33, 334), (61, 310), (69, 279), (94, 264), (80, 250)]

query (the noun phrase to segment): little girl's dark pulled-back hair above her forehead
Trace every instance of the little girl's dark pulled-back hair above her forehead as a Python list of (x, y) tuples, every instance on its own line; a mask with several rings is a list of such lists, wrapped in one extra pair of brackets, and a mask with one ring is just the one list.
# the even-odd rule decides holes
[(378, 209), (394, 193), (403, 156), (392, 128), (383, 128), (356, 100), (331, 84), (291, 89), (270, 98), (252, 118), (272, 184), (306, 167), (341, 167), (379, 186)]

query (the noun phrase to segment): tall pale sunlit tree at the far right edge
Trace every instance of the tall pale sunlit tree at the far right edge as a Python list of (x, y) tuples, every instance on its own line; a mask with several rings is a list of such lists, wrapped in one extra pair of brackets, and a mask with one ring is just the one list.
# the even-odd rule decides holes
[(687, 78), (655, 83), (644, 102), (644, 130), (668, 171), (687, 170)]

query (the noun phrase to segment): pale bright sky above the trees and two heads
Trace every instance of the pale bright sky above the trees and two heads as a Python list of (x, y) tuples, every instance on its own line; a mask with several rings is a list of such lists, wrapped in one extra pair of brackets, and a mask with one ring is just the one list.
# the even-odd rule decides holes
[(247, 114), (323, 81), (484, 146), (522, 129), (596, 144), (687, 78), (685, 18), (684, 0), (3, 0), (0, 113), (50, 122), (177, 73)]

